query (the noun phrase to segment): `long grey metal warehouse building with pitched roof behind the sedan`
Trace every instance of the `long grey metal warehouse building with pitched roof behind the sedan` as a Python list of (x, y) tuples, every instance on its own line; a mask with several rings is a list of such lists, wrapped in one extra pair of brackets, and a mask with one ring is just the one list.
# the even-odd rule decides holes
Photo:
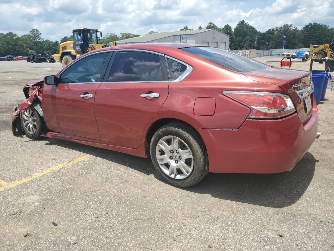
[(117, 41), (117, 45), (135, 43), (186, 43), (209, 45), (228, 50), (229, 36), (216, 29), (169, 31), (137, 36)]

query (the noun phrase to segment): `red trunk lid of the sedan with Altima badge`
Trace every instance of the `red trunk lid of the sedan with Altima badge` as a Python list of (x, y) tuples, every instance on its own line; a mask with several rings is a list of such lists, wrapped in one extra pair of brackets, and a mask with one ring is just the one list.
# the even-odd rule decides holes
[[(311, 85), (311, 72), (282, 69), (282, 68), (267, 68), (253, 72), (243, 73), (246, 77), (262, 82), (278, 85), (292, 98), (295, 104), (298, 116), (303, 124), (305, 124), (312, 115), (313, 93), (308, 97), (300, 98), (298, 91), (306, 89)], [(311, 105), (307, 106), (307, 102), (311, 101)]]

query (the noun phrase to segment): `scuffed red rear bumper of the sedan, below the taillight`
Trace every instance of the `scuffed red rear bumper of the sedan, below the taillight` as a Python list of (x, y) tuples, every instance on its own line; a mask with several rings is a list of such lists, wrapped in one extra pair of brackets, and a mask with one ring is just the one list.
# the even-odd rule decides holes
[[(314, 102), (315, 104), (315, 102)], [(247, 119), (237, 130), (198, 129), (216, 173), (290, 171), (308, 151), (318, 132), (318, 109), (303, 125), (298, 114), (278, 120)]]

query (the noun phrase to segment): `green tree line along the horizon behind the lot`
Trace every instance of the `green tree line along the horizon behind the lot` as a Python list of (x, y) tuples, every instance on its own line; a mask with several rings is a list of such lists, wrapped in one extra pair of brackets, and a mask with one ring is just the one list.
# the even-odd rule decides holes
[[(302, 29), (293, 27), (292, 24), (284, 24), (281, 27), (271, 28), (265, 32), (256, 30), (249, 23), (241, 20), (232, 28), (229, 24), (218, 27), (216, 24), (209, 22), (205, 29), (217, 29), (229, 35), (229, 49), (282, 49), (282, 41), (286, 40), (285, 49), (309, 48), (312, 45), (330, 44), (334, 33), (334, 28), (329, 28), (326, 24), (309, 23)], [(204, 29), (199, 26), (197, 29)], [(180, 29), (192, 30), (188, 26)], [(157, 33), (150, 31), (148, 34)], [(115, 33), (107, 33), (100, 38), (99, 43), (107, 44), (112, 41), (123, 40), (131, 37), (140, 36), (122, 32), (119, 35)], [(13, 32), (0, 33), (0, 57), (6, 55), (25, 56), (29, 53), (55, 54), (59, 53), (59, 44), (72, 40), (73, 36), (64, 36), (59, 41), (51, 41), (44, 39), (41, 32), (32, 29), (28, 34), (18, 36)]]

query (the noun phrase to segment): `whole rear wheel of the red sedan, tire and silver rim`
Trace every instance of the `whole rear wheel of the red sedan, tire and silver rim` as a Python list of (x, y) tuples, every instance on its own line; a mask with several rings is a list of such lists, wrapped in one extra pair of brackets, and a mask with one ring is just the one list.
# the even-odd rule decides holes
[(159, 128), (152, 137), (150, 153), (156, 171), (174, 186), (193, 186), (208, 173), (200, 136), (182, 123)]

